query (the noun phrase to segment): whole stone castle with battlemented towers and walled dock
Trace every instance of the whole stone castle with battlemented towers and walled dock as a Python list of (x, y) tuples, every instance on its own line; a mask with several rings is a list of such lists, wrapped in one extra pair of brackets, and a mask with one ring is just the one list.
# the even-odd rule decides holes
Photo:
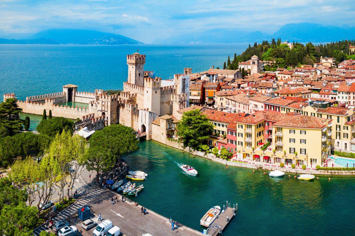
[[(68, 119), (80, 118), (77, 127), (89, 130), (102, 129), (111, 124), (121, 124), (140, 131), (141, 136), (152, 138), (152, 122), (159, 116), (173, 115), (189, 107), (189, 84), (191, 68), (184, 68), (184, 74), (175, 74), (173, 80), (154, 77), (152, 71), (144, 71), (146, 56), (133, 53), (127, 55), (128, 78), (123, 83), (120, 95), (108, 95), (103, 90), (94, 93), (78, 92), (76, 85), (63, 86), (63, 91), (27, 97), (18, 101), (24, 113), (42, 115), (43, 109), (51, 110), (52, 116)], [(6, 98), (15, 94), (4, 94)], [(67, 106), (61, 103), (79, 102), (87, 106)]]

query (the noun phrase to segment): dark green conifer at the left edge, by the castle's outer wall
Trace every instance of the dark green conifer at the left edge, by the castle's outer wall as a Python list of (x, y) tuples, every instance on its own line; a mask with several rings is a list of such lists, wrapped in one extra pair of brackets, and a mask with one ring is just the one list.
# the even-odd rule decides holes
[(21, 111), (15, 98), (7, 98), (5, 102), (0, 103), (0, 127), (6, 128), (8, 134), (13, 135), (22, 131)]

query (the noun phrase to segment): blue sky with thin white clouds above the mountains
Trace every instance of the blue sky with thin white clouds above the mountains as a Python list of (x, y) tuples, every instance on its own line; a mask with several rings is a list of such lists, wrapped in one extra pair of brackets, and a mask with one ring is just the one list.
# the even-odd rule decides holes
[(210, 29), (274, 33), (288, 23), (354, 27), (354, 0), (0, 0), (0, 35), (90, 29), (150, 43)]

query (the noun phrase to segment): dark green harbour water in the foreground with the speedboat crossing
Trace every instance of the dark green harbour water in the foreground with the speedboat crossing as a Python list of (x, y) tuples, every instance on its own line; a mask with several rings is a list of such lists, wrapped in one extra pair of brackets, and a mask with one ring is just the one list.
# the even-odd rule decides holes
[[(153, 141), (125, 157), (130, 170), (148, 173), (137, 201), (153, 211), (202, 231), (200, 219), (215, 205), (238, 203), (223, 235), (353, 235), (353, 177), (319, 176), (305, 181), (270, 178), (262, 171), (212, 162)], [(195, 167), (196, 177), (179, 164)], [(133, 197), (134, 198), (134, 197)], [(342, 220), (343, 219), (343, 220)], [(346, 220), (345, 220), (346, 219)], [(168, 226), (166, 226), (168, 227)]]

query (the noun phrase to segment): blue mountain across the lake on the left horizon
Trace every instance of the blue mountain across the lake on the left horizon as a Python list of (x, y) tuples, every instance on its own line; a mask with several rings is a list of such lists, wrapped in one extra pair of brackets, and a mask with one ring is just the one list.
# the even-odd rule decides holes
[(142, 44), (120, 34), (84, 29), (48, 29), (35, 34), (10, 34), (0, 36), (0, 44), (77, 44), (122, 45)]

